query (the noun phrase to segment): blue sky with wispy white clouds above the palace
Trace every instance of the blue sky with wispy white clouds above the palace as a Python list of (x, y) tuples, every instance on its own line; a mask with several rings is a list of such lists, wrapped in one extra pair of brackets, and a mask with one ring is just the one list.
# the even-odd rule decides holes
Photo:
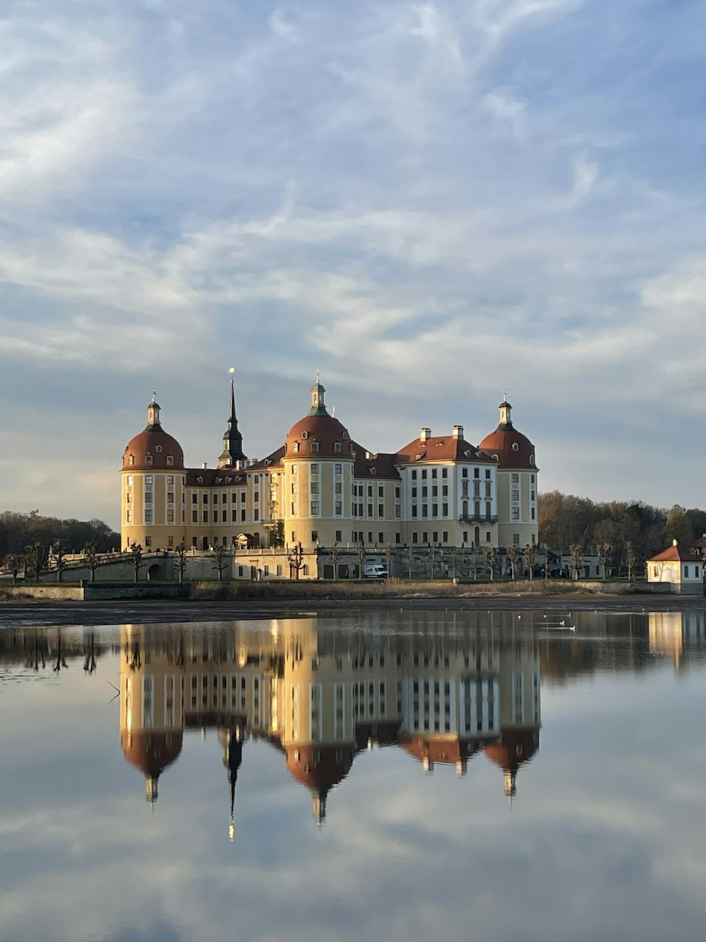
[(0, 504), (118, 523), (156, 386), (214, 463), (315, 370), (366, 447), (497, 421), (542, 490), (704, 505), (706, 8), (10, 2)]

